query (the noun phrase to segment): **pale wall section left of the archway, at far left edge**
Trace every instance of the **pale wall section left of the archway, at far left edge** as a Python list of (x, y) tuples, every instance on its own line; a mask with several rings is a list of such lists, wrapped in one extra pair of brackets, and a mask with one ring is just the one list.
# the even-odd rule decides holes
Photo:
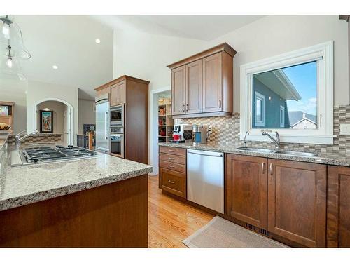
[(15, 102), (14, 133), (20, 133), (27, 127), (26, 90), (27, 81), (0, 79), (0, 101)]

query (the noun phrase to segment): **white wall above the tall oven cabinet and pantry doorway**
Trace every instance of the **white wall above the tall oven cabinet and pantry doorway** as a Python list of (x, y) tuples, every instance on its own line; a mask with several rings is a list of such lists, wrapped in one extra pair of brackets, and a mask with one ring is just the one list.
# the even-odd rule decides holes
[(113, 77), (125, 74), (151, 81), (151, 89), (170, 86), (167, 65), (193, 55), (205, 41), (114, 30)]

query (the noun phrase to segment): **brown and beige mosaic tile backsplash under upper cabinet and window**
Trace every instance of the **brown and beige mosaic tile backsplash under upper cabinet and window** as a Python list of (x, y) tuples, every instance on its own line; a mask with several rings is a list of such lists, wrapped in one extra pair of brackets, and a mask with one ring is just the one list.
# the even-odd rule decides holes
[[(333, 145), (281, 143), (281, 148), (294, 151), (311, 151), (322, 154), (350, 156), (350, 135), (339, 135), (339, 124), (350, 124), (350, 105), (334, 107), (333, 115), (334, 135), (337, 136), (333, 140)], [(181, 119), (181, 123), (213, 126), (213, 133), (209, 137), (209, 142), (216, 142), (218, 144), (238, 144), (241, 142), (239, 140), (239, 114), (237, 113), (230, 117)], [(248, 147), (274, 148), (272, 142), (247, 142), (246, 144)]]

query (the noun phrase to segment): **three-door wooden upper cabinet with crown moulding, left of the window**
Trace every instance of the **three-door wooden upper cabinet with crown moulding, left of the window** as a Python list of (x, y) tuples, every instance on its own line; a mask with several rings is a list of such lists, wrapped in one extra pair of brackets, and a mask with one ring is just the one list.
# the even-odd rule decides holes
[(168, 65), (172, 69), (172, 114), (178, 118), (232, 115), (235, 54), (223, 43)]

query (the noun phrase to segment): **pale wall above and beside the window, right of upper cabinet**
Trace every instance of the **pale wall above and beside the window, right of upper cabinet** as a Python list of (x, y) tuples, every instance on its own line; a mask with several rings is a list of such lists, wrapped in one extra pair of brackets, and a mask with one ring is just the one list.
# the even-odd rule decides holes
[(239, 112), (239, 67), (242, 64), (334, 41), (334, 102), (349, 104), (348, 24), (339, 15), (269, 15), (210, 41), (235, 48), (234, 109)]

